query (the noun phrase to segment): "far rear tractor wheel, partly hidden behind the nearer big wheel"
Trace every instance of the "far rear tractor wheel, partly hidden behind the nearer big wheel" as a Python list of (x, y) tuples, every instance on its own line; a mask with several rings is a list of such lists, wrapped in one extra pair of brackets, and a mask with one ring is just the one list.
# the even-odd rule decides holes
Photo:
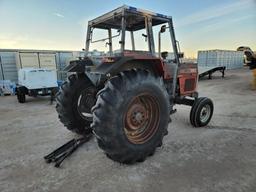
[(56, 94), (56, 110), (67, 129), (86, 135), (91, 133), (91, 108), (96, 102), (96, 89), (85, 75), (70, 75)]

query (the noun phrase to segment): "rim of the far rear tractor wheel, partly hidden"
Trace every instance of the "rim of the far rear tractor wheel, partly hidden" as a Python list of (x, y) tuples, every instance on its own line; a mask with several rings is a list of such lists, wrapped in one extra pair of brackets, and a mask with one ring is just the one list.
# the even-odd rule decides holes
[(77, 100), (77, 111), (83, 119), (92, 121), (91, 108), (94, 106), (95, 102), (94, 89), (89, 88), (81, 92)]

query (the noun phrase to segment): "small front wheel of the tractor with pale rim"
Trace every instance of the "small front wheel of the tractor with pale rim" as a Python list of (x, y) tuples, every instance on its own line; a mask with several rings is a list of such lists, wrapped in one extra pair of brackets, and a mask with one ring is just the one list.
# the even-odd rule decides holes
[(194, 127), (206, 126), (213, 114), (213, 102), (207, 97), (200, 97), (195, 100), (190, 111), (190, 123)]

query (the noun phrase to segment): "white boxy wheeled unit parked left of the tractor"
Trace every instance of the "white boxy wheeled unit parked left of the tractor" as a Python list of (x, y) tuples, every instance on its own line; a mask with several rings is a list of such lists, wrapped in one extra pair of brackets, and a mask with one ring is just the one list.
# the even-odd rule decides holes
[(16, 87), (19, 103), (26, 102), (26, 95), (52, 95), (57, 90), (56, 71), (43, 68), (23, 68), (18, 73), (18, 85)]

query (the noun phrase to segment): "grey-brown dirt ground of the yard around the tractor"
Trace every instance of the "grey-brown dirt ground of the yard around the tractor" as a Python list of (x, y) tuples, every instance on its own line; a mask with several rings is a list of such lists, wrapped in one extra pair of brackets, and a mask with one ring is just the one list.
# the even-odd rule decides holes
[(95, 139), (60, 169), (43, 156), (74, 137), (58, 121), (49, 98), (0, 97), (0, 191), (242, 192), (256, 191), (256, 91), (251, 71), (227, 71), (199, 82), (212, 98), (214, 116), (205, 128), (189, 123), (189, 107), (177, 106), (169, 134), (143, 163), (108, 159)]

